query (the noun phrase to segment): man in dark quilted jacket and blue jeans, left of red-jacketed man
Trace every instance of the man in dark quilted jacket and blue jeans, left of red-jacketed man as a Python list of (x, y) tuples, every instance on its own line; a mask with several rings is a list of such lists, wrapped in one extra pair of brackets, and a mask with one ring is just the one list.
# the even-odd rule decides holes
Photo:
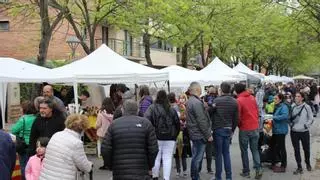
[(231, 96), (229, 83), (222, 83), (221, 96), (213, 100), (213, 106), (209, 109), (214, 134), (214, 146), (216, 150), (216, 180), (222, 180), (222, 157), (226, 171), (226, 179), (232, 179), (230, 141), (234, 130), (238, 125), (238, 104)]

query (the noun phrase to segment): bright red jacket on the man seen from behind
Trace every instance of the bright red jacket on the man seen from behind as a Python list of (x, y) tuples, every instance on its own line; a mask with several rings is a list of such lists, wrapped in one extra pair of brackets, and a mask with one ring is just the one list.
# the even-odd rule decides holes
[(259, 111), (256, 99), (244, 91), (238, 95), (239, 129), (251, 131), (259, 128)]

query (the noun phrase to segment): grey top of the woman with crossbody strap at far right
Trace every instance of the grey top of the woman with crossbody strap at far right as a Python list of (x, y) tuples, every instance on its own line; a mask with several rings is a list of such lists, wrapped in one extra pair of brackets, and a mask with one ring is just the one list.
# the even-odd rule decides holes
[[(301, 108), (303, 108), (302, 111)], [(297, 116), (300, 111), (300, 116)], [(294, 132), (309, 131), (310, 126), (313, 123), (313, 113), (311, 107), (306, 103), (302, 103), (300, 105), (293, 104), (292, 117), (295, 116), (296, 118), (292, 120), (291, 130)]]

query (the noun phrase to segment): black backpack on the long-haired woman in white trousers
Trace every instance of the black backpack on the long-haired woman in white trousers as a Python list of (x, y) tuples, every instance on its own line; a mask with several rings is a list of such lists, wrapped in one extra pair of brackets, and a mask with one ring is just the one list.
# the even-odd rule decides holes
[(157, 138), (159, 140), (169, 140), (176, 138), (178, 132), (175, 124), (175, 111), (170, 108), (170, 113), (163, 114), (160, 112), (159, 107), (153, 106), (153, 119)]

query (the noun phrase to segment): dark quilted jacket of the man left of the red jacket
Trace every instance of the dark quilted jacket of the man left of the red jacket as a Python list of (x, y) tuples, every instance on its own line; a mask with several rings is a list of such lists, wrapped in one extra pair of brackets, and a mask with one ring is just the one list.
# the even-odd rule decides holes
[(238, 104), (231, 96), (221, 96), (213, 100), (214, 107), (209, 108), (212, 130), (230, 128), (232, 132), (238, 125)]

